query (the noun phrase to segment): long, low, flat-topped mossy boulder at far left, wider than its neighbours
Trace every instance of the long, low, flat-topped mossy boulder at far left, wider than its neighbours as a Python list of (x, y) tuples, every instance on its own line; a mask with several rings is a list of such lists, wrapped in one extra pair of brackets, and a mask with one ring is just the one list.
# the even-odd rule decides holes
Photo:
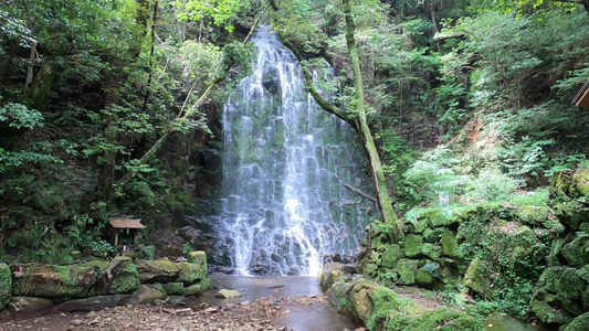
[(95, 265), (53, 266), (15, 264), (12, 271), (12, 293), (49, 298), (83, 298), (96, 284), (101, 269)]

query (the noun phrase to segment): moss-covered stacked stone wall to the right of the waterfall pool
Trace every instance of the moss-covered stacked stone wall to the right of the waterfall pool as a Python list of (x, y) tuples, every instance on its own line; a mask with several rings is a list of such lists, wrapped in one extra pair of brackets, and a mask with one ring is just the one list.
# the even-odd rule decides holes
[(588, 169), (557, 174), (547, 205), (413, 210), (404, 242), (371, 224), (357, 269), (388, 286), (465, 287), (491, 301), (517, 293), (543, 323), (577, 325), (589, 311), (588, 178)]

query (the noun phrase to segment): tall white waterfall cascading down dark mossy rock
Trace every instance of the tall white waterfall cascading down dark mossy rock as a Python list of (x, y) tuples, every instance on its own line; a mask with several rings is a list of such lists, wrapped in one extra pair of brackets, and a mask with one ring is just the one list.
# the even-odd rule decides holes
[[(223, 107), (223, 199), (212, 263), (241, 275), (318, 275), (325, 256), (360, 249), (375, 204), (353, 128), (304, 90), (294, 54), (262, 26), (257, 58)], [(224, 259), (221, 258), (224, 256)]]

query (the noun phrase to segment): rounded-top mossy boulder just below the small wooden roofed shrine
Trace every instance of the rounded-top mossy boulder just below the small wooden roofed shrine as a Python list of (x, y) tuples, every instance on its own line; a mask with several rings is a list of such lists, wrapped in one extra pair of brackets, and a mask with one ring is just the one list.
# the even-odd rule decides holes
[(139, 288), (139, 273), (130, 257), (115, 257), (99, 274), (96, 281), (98, 295), (127, 293)]

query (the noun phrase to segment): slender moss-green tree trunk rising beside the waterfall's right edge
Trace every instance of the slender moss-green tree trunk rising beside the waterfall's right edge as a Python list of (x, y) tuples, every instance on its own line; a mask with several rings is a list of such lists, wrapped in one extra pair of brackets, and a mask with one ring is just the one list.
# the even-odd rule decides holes
[(356, 25), (354, 24), (354, 19), (351, 18), (351, 10), (349, 6), (349, 0), (343, 0), (344, 2), (344, 14), (346, 17), (346, 43), (348, 45), (348, 51), (351, 60), (351, 70), (354, 72), (354, 84), (356, 87), (356, 103), (358, 110), (358, 119), (360, 126), (360, 132), (364, 138), (364, 146), (368, 152), (372, 178), (375, 180), (375, 188), (377, 191), (378, 203), (382, 212), (382, 218), (385, 223), (392, 225), (392, 232), (397, 241), (402, 239), (403, 233), (401, 229), (401, 224), (392, 209), (391, 201), (389, 199), (389, 192), (387, 189), (387, 182), (385, 180), (385, 173), (382, 172), (382, 164), (380, 163), (380, 156), (375, 146), (375, 140), (372, 139), (372, 134), (370, 132), (370, 127), (368, 126), (368, 119), (366, 115), (366, 105), (364, 102), (364, 88), (362, 88), (362, 76), (360, 72), (360, 60), (358, 56), (358, 49), (356, 47), (356, 39), (354, 36), (356, 32)]

